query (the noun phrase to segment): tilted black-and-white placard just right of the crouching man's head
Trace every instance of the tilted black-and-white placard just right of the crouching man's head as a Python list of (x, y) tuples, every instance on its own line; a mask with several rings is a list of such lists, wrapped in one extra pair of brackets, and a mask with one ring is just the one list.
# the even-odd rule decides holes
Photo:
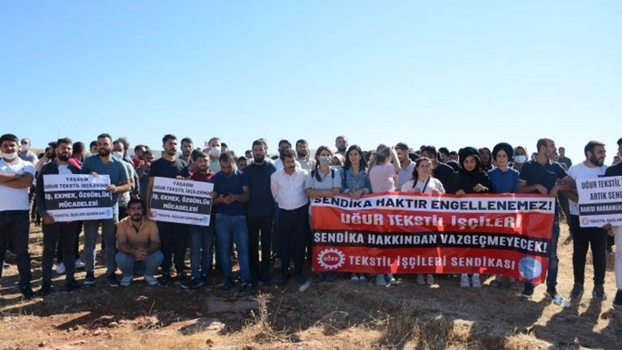
[(151, 219), (209, 226), (213, 189), (210, 182), (154, 177)]

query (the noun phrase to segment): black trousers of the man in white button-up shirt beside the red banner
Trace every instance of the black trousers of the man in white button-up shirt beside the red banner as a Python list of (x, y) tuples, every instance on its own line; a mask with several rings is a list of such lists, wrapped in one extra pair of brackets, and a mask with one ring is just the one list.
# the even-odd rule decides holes
[(289, 265), (294, 260), (294, 274), (302, 273), (305, 262), (306, 234), (309, 230), (309, 207), (302, 206), (294, 210), (280, 209), (279, 212), (279, 256), (281, 257), (281, 275), (289, 277)]

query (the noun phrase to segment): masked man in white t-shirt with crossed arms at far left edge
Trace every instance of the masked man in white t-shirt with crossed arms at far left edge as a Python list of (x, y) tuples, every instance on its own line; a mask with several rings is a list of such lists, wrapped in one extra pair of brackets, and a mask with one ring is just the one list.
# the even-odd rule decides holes
[[(28, 188), (34, 179), (32, 163), (19, 158), (19, 140), (12, 134), (0, 136), (0, 258), (4, 261), (9, 239), (17, 254), (19, 291), (26, 298), (34, 293), (30, 288), (30, 253), (28, 252)], [(0, 277), (2, 269), (0, 268)]]

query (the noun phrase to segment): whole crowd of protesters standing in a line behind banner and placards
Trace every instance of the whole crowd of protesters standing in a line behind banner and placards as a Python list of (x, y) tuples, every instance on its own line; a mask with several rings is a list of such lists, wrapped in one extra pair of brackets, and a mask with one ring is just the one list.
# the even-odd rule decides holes
[[(592, 297), (605, 300), (606, 252), (622, 240), (622, 227), (606, 225), (580, 227), (576, 183), (580, 179), (621, 176), (622, 138), (617, 141), (618, 155), (605, 166), (605, 144), (590, 141), (585, 145), (585, 160), (572, 164), (564, 148), (553, 140), (537, 141), (536, 151), (527, 158), (524, 146), (508, 143), (490, 148), (466, 146), (458, 151), (424, 145), (412, 149), (406, 143), (380, 144), (363, 151), (338, 136), (335, 149), (318, 146), (310, 154), (309, 144), (298, 140), (292, 145), (279, 141), (278, 156), (268, 157), (267, 141), (253, 141), (244, 156), (228, 149), (219, 138), (211, 138), (206, 147), (195, 148), (190, 138), (179, 141), (174, 135), (162, 138), (162, 156), (146, 145), (134, 147), (126, 138), (113, 139), (103, 133), (86, 145), (61, 138), (50, 142), (42, 154), (30, 151), (30, 140), (5, 134), (0, 137), (0, 256), (7, 250), (16, 255), (19, 290), (27, 298), (31, 265), (28, 250), (30, 221), (43, 231), (42, 283), (40, 295), (53, 292), (54, 260), (56, 272), (65, 274), (65, 290), (83, 285), (94, 286), (96, 242), (101, 232), (101, 252), (106, 263), (106, 284), (129, 286), (136, 272), (142, 272), (149, 285), (200, 288), (208, 285), (211, 273), (224, 277), (224, 290), (238, 285), (239, 290), (256, 293), (259, 286), (285, 285), (290, 278), (300, 285), (330, 282), (334, 273), (305, 274), (311, 261), (309, 199), (345, 194), (355, 199), (373, 192), (503, 194), (536, 193), (556, 197), (552, 245), (547, 271), (546, 295), (558, 305), (569, 305), (557, 292), (560, 211), (567, 219), (573, 241), (574, 285), (570, 300), (580, 300), (585, 283), (587, 250), (592, 250)], [(157, 159), (156, 159), (157, 158)], [(81, 222), (55, 222), (47, 212), (44, 184), (46, 174), (108, 175), (107, 190), (113, 200), (113, 217)], [(185, 225), (150, 219), (154, 177), (211, 182), (213, 212), (210, 225)], [(83, 233), (83, 251), (78, 237)], [(614, 239), (615, 237), (615, 239)], [(622, 244), (616, 246), (616, 295), (614, 306), (622, 306)], [(189, 251), (190, 274), (185, 258)], [(237, 260), (239, 277), (233, 273)], [(213, 264), (215, 262), (215, 264)], [(78, 283), (76, 270), (85, 277)], [(121, 278), (117, 278), (120, 270)], [(276, 273), (279, 270), (279, 273)], [(159, 278), (156, 274), (159, 273)], [(1, 270), (0, 270), (1, 276)], [(397, 284), (392, 274), (369, 276), (351, 273), (350, 280), (366, 283), (373, 277), (379, 286)], [(274, 279), (273, 279), (274, 278)], [(434, 276), (417, 275), (417, 285), (433, 285)], [(480, 275), (463, 274), (460, 286), (481, 287)], [(496, 277), (492, 286), (502, 286)], [(515, 280), (509, 286), (518, 287)], [(534, 285), (524, 283), (521, 296), (531, 298)]]

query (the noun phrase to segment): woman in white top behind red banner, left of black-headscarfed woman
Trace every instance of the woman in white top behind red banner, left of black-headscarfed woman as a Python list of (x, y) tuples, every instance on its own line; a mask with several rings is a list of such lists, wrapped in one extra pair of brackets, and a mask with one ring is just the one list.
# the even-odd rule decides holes
[[(412, 179), (402, 185), (402, 192), (444, 194), (445, 189), (439, 179), (432, 177), (430, 159), (419, 157), (415, 160), (415, 168), (412, 169)], [(434, 277), (428, 273), (425, 277), (417, 275), (417, 285), (433, 285)]]

